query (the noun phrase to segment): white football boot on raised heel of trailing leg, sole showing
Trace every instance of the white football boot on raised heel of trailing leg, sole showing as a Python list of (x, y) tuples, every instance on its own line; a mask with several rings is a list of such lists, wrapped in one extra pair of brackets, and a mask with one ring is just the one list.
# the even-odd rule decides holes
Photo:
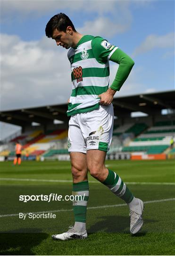
[(143, 219), (142, 219), (142, 213), (143, 213), (143, 209), (144, 209), (144, 204), (143, 201), (139, 200), (139, 204), (138, 206), (136, 206), (133, 209), (130, 209), (130, 213), (129, 216), (131, 217), (130, 219), (130, 233), (131, 234), (136, 234), (143, 225)]

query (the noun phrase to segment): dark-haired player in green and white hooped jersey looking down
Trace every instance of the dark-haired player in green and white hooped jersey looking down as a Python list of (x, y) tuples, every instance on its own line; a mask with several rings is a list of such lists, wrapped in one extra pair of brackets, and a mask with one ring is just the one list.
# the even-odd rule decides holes
[[(86, 208), (89, 198), (87, 172), (124, 200), (130, 210), (130, 232), (137, 233), (143, 224), (142, 200), (135, 198), (122, 179), (105, 166), (112, 140), (114, 112), (112, 100), (133, 67), (133, 60), (102, 37), (78, 33), (64, 13), (53, 16), (46, 25), (46, 36), (57, 46), (69, 49), (72, 94), (68, 101), (68, 151), (72, 165), (75, 225), (68, 231), (52, 235), (54, 239), (87, 238)], [(109, 85), (109, 60), (119, 64), (114, 82)]]

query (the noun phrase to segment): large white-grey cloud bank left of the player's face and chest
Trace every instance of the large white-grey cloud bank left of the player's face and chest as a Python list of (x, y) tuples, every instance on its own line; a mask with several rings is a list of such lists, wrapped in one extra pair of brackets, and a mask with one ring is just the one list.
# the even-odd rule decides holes
[(24, 42), (17, 36), (2, 35), (1, 42), (2, 109), (67, 100), (71, 93), (67, 51), (47, 37)]

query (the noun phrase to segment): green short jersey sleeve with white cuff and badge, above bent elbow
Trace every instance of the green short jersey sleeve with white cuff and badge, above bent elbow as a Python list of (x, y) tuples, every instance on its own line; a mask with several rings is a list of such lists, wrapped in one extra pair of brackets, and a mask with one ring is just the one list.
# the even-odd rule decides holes
[(92, 39), (93, 55), (99, 63), (106, 63), (117, 48), (117, 46), (110, 44), (102, 37), (94, 37)]

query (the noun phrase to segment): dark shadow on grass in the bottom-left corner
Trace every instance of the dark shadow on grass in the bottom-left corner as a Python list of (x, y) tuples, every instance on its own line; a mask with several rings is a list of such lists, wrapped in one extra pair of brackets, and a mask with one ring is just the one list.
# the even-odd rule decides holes
[(12, 233), (0, 233), (0, 255), (33, 255), (32, 248), (48, 238), (48, 234), (39, 233), (40, 230), (13, 230)]

